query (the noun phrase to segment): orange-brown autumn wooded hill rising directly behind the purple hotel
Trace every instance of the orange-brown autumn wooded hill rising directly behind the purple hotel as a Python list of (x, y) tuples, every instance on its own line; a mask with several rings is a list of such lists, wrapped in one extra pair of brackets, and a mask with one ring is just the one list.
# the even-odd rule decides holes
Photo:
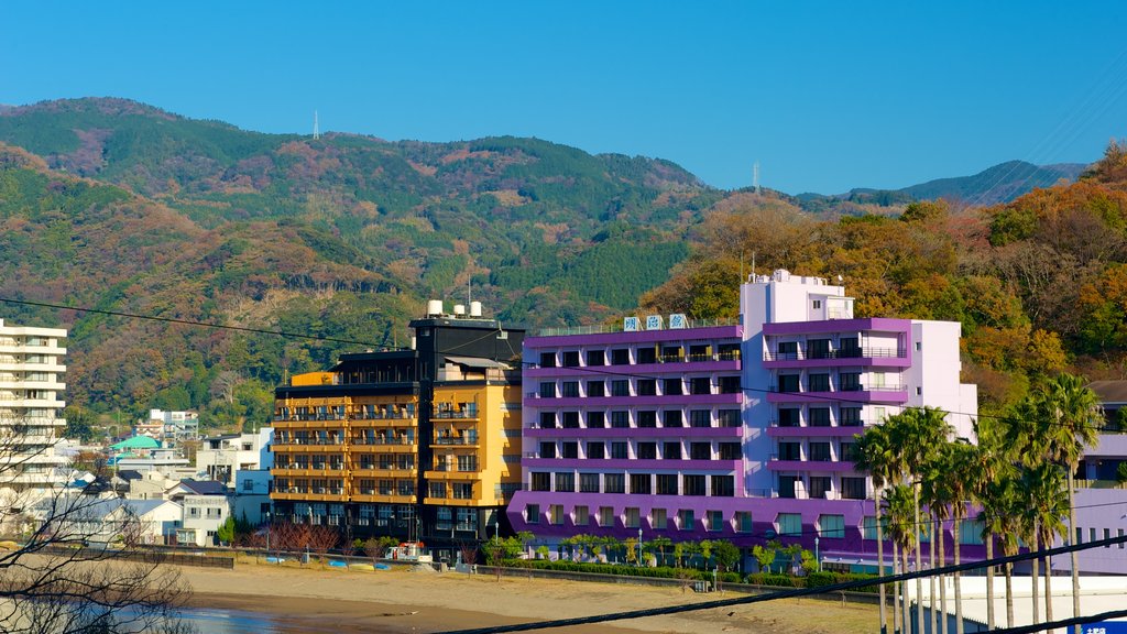
[(962, 322), (964, 380), (999, 412), (1064, 369), (1127, 378), (1127, 146), (1075, 183), (990, 208), (915, 202), (828, 220), (774, 194), (731, 196), (692, 255), (642, 298), (694, 317), (738, 312), (739, 271), (842, 275), (861, 316)]

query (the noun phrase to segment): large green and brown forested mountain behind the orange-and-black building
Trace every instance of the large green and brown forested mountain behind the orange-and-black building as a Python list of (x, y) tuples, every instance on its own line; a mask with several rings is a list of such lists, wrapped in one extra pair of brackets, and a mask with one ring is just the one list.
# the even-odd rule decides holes
[(535, 139), (313, 140), (122, 99), (6, 109), (0, 142), (0, 297), (360, 342), (5, 305), (71, 328), (69, 399), (100, 410), (246, 414), (285, 372), (405, 343), (429, 298), (596, 323), (665, 281), (724, 196), (668, 161)]

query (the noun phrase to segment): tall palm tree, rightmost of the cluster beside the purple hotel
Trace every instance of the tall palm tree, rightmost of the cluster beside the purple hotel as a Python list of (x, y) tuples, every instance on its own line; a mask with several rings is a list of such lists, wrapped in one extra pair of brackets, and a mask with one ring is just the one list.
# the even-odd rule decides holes
[[(1048, 425), (1046, 458), (1064, 466), (1068, 491), (1068, 530), (1076, 532), (1075, 485), (1073, 477), (1080, 466), (1084, 447), (1098, 440), (1097, 428), (1103, 421), (1100, 399), (1086, 387), (1088, 380), (1073, 375), (1061, 375), (1041, 390), (1038, 414)], [(1072, 541), (1068, 536), (1066, 541)], [(1072, 610), (1080, 616), (1080, 563), (1072, 552)], [(1076, 625), (1075, 633), (1080, 634)]]

